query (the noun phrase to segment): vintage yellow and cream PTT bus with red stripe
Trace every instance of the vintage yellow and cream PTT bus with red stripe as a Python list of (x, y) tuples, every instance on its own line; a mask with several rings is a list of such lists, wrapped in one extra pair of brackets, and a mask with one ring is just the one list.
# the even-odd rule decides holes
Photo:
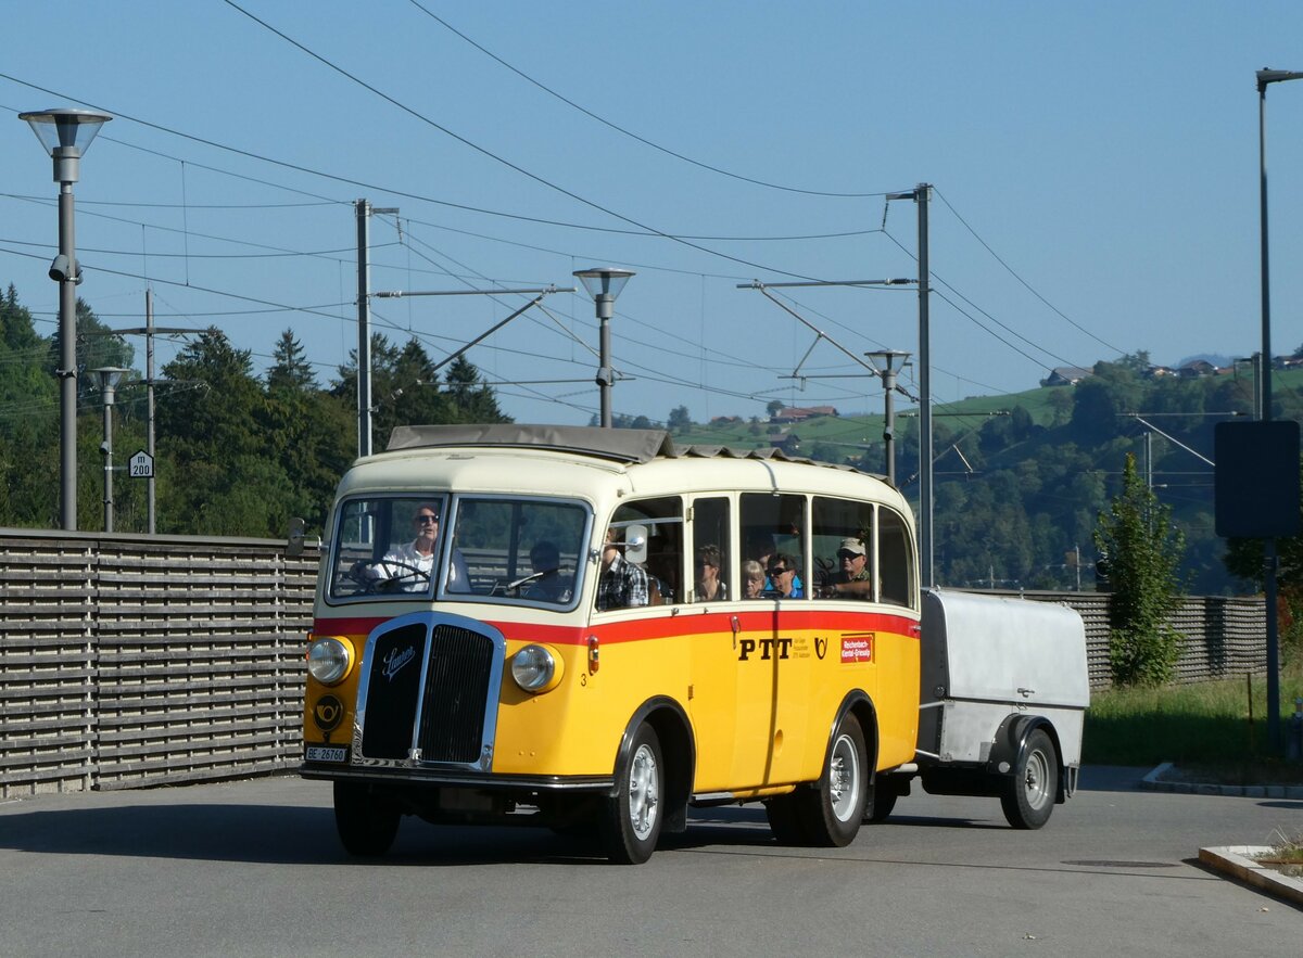
[(352, 854), (414, 815), (638, 863), (689, 807), (745, 802), (843, 846), (915, 756), (913, 519), (881, 476), (652, 430), (400, 427), (327, 538), (301, 773)]

